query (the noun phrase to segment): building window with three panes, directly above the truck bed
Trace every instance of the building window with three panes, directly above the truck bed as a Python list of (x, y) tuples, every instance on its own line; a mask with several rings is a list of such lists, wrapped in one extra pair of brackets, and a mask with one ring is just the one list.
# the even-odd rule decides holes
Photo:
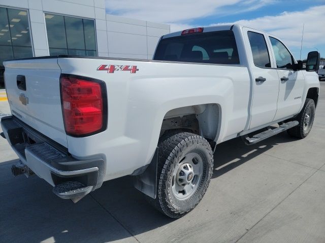
[(45, 20), (51, 56), (97, 56), (93, 20), (54, 14), (45, 14)]

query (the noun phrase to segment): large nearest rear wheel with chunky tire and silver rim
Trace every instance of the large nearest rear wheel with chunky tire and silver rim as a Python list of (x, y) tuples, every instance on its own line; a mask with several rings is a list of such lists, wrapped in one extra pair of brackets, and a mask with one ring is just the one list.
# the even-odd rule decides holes
[(188, 132), (164, 135), (158, 144), (157, 196), (150, 203), (168, 217), (184, 216), (200, 203), (212, 171), (206, 139)]

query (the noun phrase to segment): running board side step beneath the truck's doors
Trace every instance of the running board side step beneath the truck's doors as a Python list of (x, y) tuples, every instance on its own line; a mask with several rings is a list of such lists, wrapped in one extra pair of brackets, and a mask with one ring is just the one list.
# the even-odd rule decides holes
[(248, 135), (242, 136), (242, 138), (246, 145), (252, 145), (264, 139), (270, 138), (276, 134), (279, 134), (285, 130), (296, 127), (298, 124), (299, 122), (297, 120), (292, 120), (288, 121), (287, 123), (283, 123), (278, 128), (268, 129), (267, 131), (264, 131), (262, 133), (255, 134), (251, 138), (248, 137)]

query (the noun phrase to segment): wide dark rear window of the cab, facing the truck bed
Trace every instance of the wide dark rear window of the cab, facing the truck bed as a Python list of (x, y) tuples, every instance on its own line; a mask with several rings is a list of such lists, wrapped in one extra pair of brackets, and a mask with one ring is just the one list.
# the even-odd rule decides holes
[(232, 30), (163, 38), (157, 46), (153, 60), (239, 64)]

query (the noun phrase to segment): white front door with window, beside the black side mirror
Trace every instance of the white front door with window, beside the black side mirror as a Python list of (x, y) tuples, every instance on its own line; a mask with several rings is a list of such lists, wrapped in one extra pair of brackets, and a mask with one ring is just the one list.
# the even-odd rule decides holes
[(305, 82), (302, 71), (293, 70), (294, 57), (283, 43), (272, 36), (269, 41), (279, 75), (278, 108), (274, 117), (278, 120), (299, 113)]

